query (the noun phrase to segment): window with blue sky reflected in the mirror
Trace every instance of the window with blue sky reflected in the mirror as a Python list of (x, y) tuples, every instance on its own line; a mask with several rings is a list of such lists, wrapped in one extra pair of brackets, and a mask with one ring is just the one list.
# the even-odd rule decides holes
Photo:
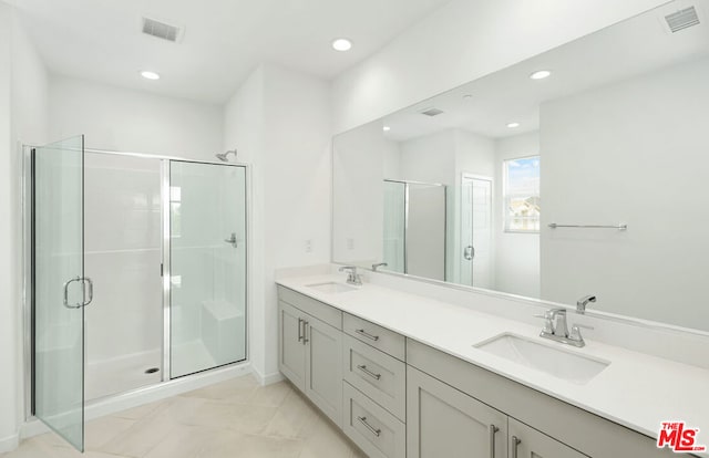
[(504, 162), (505, 231), (540, 231), (540, 156)]

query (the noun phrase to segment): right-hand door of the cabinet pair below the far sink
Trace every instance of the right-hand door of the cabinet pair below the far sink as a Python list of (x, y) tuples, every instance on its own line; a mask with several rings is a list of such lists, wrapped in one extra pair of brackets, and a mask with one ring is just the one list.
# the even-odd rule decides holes
[(342, 332), (306, 316), (306, 395), (342, 426)]

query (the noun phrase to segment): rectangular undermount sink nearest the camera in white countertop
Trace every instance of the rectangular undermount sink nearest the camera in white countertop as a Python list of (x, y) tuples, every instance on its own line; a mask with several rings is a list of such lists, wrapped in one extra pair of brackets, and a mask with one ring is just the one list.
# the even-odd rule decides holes
[(610, 365), (606, 361), (582, 356), (510, 333), (496, 335), (473, 346), (577, 384), (588, 383)]

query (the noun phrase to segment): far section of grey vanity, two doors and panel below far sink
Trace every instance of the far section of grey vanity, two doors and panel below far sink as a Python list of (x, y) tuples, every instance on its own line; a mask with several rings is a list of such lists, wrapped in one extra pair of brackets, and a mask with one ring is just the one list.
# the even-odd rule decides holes
[(342, 312), (287, 289), (278, 295), (278, 367), (341, 427)]

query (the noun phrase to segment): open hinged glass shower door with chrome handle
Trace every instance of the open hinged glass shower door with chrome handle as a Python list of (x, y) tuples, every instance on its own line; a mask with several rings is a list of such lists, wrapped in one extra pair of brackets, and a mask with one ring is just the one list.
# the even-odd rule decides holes
[(84, 448), (83, 136), (32, 150), (34, 415)]

